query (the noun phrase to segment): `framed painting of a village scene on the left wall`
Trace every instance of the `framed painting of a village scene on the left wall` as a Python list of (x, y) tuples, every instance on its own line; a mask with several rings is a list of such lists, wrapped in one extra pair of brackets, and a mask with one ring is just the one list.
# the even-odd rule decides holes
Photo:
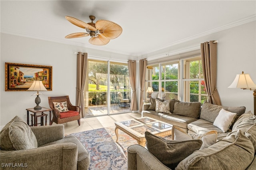
[(5, 91), (26, 91), (36, 80), (52, 91), (52, 66), (5, 63)]

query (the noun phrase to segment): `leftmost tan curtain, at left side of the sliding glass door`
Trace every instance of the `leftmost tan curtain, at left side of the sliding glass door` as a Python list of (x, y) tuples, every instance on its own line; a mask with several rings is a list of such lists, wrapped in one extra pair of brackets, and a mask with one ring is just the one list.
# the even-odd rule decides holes
[(86, 65), (87, 65), (87, 53), (77, 54), (77, 67), (76, 67), (76, 105), (81, 107), (81, 116), (84, 115), (84, 85), (86, 79)]

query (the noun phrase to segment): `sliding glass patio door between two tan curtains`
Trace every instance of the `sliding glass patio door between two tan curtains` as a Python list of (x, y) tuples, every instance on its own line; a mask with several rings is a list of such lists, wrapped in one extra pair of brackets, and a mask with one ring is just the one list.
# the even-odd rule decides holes
[[(126, 113), (128, 105), (119, 107), (118, 92), (130, 99), (128, 65), (110, 61), (88, 60), (88, 76), (84, 87), (84, 105), (90, 116)], [(97, 106), (97, 107), (95, 107)], [(91, 109), (92, 110), (92, 109)]]

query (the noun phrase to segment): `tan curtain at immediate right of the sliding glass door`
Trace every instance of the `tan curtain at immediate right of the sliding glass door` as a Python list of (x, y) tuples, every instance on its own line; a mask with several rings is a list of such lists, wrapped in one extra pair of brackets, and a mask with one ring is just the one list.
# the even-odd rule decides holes
[(128, 70), (129, 70), (129, 78), (130, 84), (132, 87), (132, 97), (131, 97), (131, 111), (137, 111), (137, 97), (136, 97), (136, 61), (128, 60)]

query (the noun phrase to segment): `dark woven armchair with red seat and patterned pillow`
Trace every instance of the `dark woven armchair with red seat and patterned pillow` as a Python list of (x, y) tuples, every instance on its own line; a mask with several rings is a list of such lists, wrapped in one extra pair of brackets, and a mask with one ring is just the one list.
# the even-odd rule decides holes
[(61, 124), (71, 121), (78, 121), (80, 126), (80, 106), (70, 103), (68, 96), (48, 97), (49, 106), (52, 109), (52, 123)]

